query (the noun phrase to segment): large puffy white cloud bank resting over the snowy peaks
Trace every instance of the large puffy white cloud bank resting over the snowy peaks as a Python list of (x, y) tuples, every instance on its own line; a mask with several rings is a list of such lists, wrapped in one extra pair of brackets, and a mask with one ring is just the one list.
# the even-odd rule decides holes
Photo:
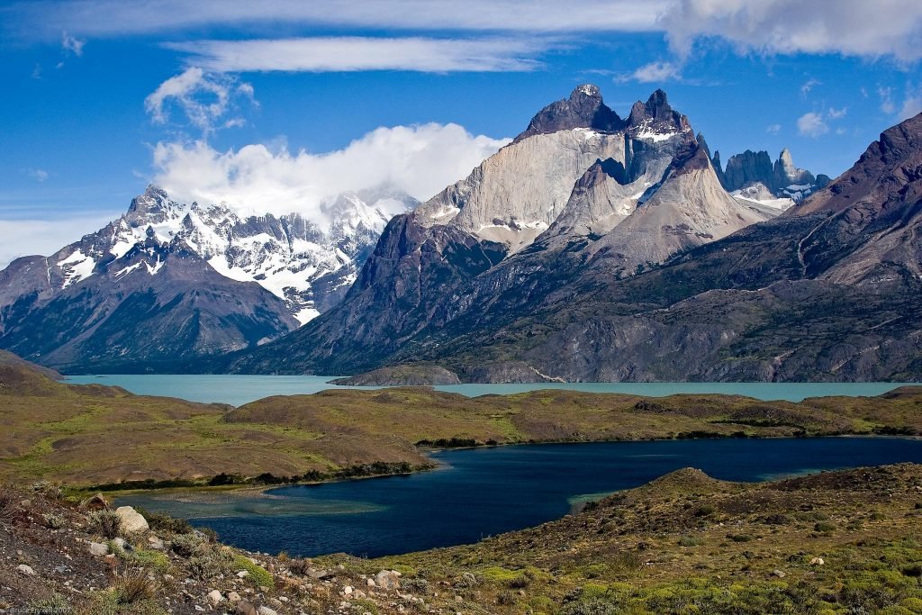
[(160, 143), (152, 181), (184, 202), (224, 201), (242, 213), (300, 211), (317, 219), (325, 197), (382, 183), (425, 200), (508, 141), (472, 136), (457, 124), (422, 124), (378, 128), (325, 154), (262, 144), (217, 151), (204, 141)]

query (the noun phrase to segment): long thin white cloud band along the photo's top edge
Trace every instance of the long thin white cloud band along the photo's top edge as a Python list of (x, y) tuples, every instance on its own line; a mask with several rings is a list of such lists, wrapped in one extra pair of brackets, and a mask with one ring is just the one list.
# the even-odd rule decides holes
[(671, 0), (30, 0), (16, 5), (7, 28), (19, 36), (61, 29), (91, 36), (163, 32), (209, 25), (347, 26), (380, 30), (529, 32), (650, 31)]

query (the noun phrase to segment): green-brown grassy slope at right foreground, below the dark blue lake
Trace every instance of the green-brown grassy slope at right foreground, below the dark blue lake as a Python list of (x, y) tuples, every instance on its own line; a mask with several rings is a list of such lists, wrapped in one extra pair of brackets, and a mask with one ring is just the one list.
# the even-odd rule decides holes
[(476, 545), (321, 562), (396, 568), (465, 613), (909, 615), (922, 613), (920, 537), (917, 465), (761, 484), (686, 468)]

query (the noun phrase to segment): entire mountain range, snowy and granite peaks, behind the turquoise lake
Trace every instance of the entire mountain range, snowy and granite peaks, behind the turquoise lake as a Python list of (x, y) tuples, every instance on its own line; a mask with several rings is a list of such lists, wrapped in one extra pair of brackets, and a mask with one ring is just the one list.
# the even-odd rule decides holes
[(831, 182), (786, 149), (723, 165), (661, 90), (622, 118), (582, 85), (422, 204), (244, 217), (151, 186), (0, 273), (0, 347), (375, 384), (916, 380), (920, 124)]

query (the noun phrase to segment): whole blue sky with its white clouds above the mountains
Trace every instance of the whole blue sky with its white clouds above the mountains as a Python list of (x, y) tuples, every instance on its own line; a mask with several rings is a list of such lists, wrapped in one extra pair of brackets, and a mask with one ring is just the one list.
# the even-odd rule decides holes
[(724, 160), (788, 147), (834, 176), (922, 111), (919, 5), (6, 3), (0, 265), (152, 181), (251, 209), (381, 181), (426, 198), (584, 82), (621, 115), (665, 89)]

